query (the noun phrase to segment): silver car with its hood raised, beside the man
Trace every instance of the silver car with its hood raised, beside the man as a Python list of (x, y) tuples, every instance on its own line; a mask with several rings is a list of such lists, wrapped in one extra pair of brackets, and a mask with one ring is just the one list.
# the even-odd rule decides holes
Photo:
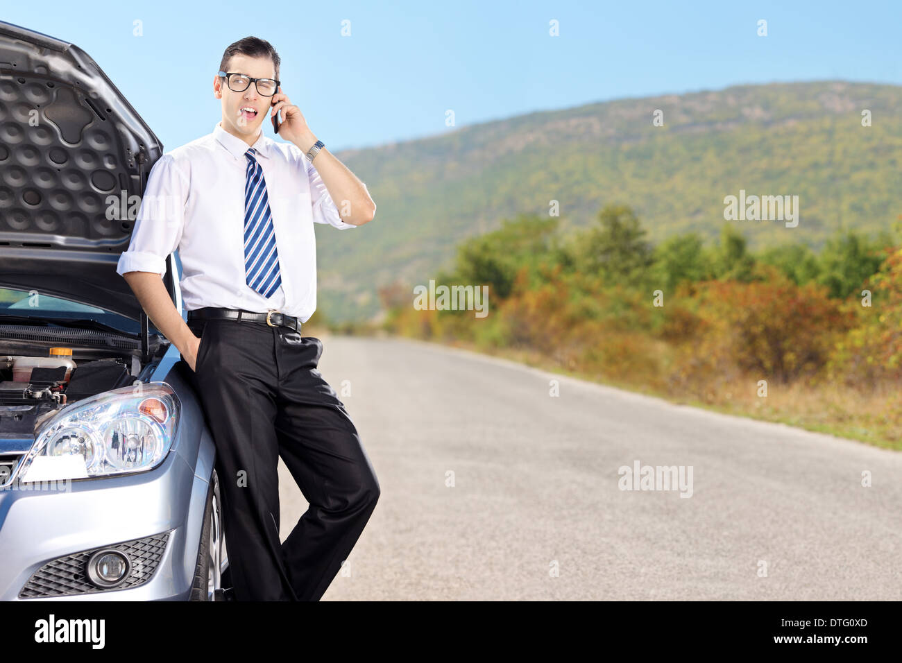
[(223, 599), (194, 373), (115, 271), (162, 152), (87, 53), (0, 22), (0, 599)]

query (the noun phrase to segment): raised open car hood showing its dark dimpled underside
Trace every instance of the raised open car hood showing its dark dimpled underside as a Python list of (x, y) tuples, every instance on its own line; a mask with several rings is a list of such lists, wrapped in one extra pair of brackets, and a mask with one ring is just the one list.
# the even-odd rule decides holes
[[(0, 22), (0, 287), (140, 319), (115, 269), (162, 152), (85, 51)], [(175, 301), (171, 269), (164, 282)]]

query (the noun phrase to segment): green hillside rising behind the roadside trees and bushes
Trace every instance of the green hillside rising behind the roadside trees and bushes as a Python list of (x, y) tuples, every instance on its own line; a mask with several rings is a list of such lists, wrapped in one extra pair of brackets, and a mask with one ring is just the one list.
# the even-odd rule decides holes
[(900, 148), (902, 87), (819, 81), (622, 99), (337, 152), (378, 209), (350, 231), (318, 226), (318, 310), (370, 318), (392, 281), (410, 283), (412, 300), (462, 239), (519, 213), (548, 215), (551, 200), (564, 229), (629, 205), (656, 243), (687, 230), (715, 238), (723, 198), (740, 189), (799, 197), (794, 228), (733, 222), (754, 250), (818, 248), (841, 227), (876, 234), (902, 214)]

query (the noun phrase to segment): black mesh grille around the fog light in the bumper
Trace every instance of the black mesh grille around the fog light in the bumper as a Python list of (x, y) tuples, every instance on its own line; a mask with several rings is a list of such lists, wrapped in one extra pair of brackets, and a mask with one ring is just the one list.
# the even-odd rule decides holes
[[(54, 559), (41, 566), (32, 574), (19, 598), (33, 599), (41, 596), (70, 596), (72, 594), (97, 594), (98, 592), (116, 592), (143, 585), (153, 576), (160, 565), (163, 551), (169, 540), (171, 530), (155, 534), (144, 539), (124, 541), (112, 546), (102, 546), (83, 550), (66, 557)], [(122, 551), (132, 562), (128, 577), (115, 587), (97, 587), (87, 578), (87, 560), (98, 550), (113, 548)]]

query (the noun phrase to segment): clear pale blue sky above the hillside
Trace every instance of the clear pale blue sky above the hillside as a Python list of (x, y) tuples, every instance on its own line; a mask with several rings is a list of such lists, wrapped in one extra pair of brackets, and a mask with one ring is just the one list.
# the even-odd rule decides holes
[[(742, 83), (902, 82), (902, 2), (110, 6), (5, 0), (0, 17), (87, 51), (166, 150), (212, 131), (219, 60), (251, 34), (279, 51), (285, 92), (333, 151), (445, 133), (447, 109), (459, 127)], [(759, 19), (767, 37), (756, 34)], [(549, 36), (552, 20), (560, 36)]]

